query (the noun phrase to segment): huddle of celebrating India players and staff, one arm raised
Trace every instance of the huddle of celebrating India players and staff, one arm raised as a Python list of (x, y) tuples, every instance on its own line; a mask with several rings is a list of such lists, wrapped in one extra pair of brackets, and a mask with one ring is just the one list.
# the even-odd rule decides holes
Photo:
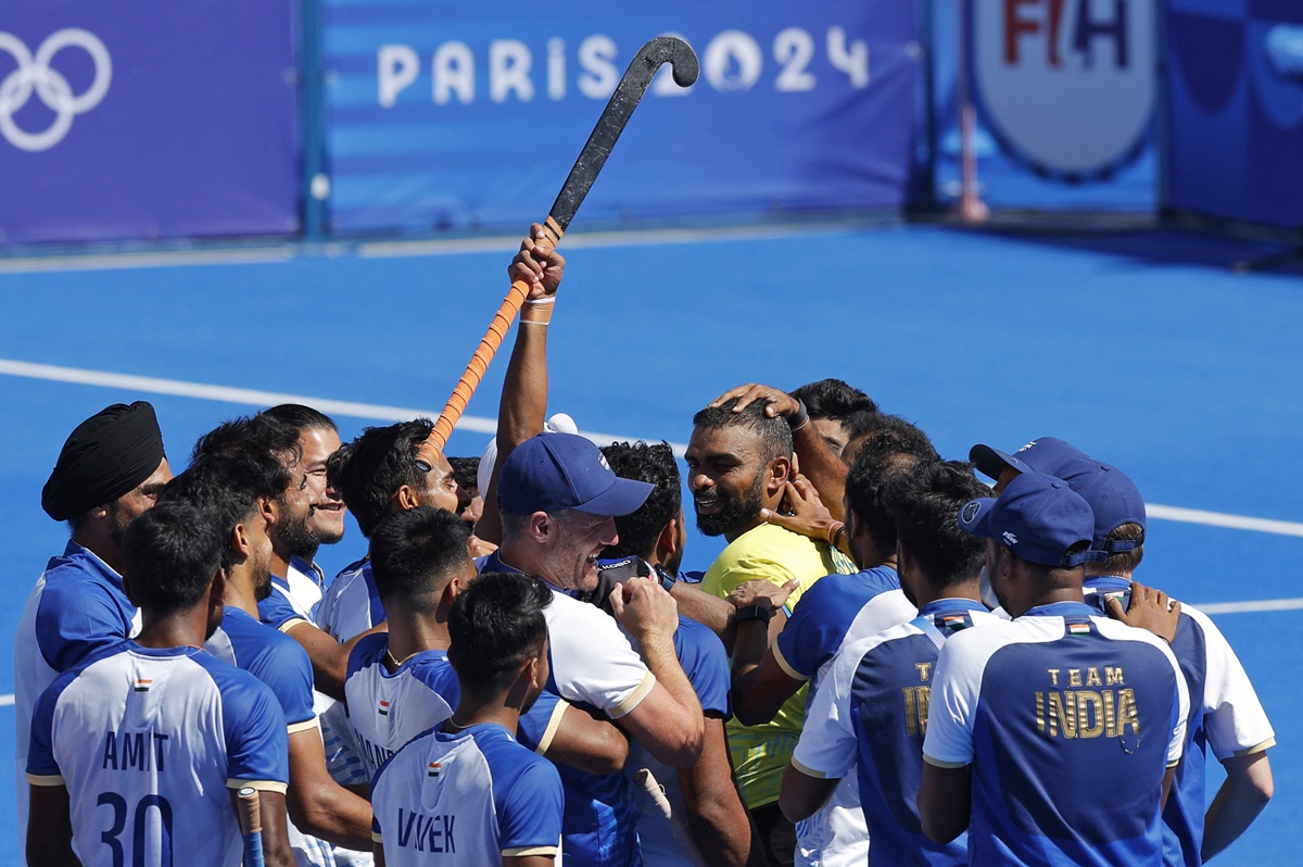
[[(1272, 726), (1213, 622), (1134, 581), (1121, 469), (740, 386), (692, 419), (727, 541), (693, 571), (670, 446), (547, 417), (563, 270), (534, 227), (480, 459), (297, 404), (175, 477), (149, 403), (72, 432), (14, 651), (26, 863), (1192, 866), (1265, 807)], [(365, 557), (327, 581), (345, 510)]]

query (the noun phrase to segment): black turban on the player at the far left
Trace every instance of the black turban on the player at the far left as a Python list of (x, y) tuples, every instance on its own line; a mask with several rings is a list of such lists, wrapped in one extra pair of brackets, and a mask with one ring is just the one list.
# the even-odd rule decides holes
[(143, 400), (115, 403), (68, 437), (40, 507), (55, 520), (82, 512), (130, 493), (163, 462), (163, 433), (154, 407)]

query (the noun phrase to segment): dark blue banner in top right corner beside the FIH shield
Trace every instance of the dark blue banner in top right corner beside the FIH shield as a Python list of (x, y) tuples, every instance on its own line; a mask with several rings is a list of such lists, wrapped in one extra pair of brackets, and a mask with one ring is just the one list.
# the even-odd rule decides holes
[(1167, 202), (1303, 227), (1303, 3), (1167, 0)]

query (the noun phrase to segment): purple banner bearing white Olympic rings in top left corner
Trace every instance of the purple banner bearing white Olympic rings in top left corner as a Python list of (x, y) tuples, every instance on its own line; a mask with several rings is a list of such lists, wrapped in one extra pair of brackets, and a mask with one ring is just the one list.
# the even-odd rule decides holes
[(0, 242), (297, 232), (292, 0), (0, 14)]

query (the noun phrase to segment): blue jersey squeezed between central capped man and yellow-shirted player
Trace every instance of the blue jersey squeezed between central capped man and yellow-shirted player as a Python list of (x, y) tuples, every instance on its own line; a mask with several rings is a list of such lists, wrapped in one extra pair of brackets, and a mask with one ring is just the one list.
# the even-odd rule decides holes
[[(727, 720), (731, 681), (728, 654), (719, 636), (709, 627), (680, 614), (679, 628), (674, 634), (674, 652), (701, 701), (702, 713), (717, 720)], [(641, 768), (650, 771), (661, 784), (672, 816), (685, 817), (688, 807), (683, 799), (679, 772), (661, 763), (635, 742), (629, 744), (629, 759), (624, 764), (625, 776), (632, 776)], [(644, 863), (649, 867), (705, 863), (685, 827), (672, 827), (641, 786), (633, 785), (632, 791)]]

